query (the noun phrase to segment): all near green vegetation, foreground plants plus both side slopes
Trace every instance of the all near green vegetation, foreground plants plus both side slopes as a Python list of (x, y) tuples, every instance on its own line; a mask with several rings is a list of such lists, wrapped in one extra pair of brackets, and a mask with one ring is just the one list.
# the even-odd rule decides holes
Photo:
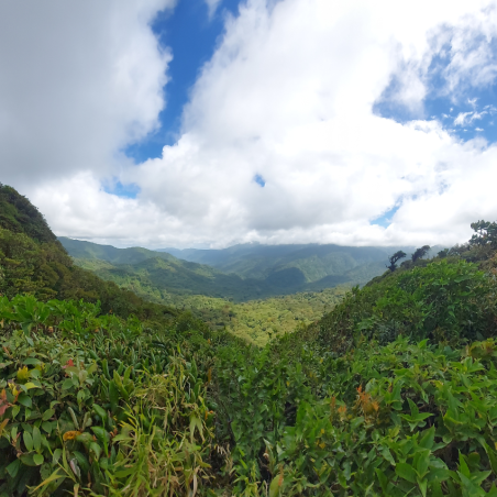
[(496, 223), (257, 346), (0, 202), (0, 496), (497, 495)]

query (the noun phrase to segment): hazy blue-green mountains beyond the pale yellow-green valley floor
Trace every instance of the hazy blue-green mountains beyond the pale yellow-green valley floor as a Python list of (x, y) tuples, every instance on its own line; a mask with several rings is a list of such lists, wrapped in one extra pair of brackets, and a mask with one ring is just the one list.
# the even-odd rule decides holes
[[(340, 245), (234, 245), (223, 250), (117, 248), (67, 238), (75, 262), (98, 276), (156, 301), (170, 295), (206, 295), (245, 301), (338, 285), (362, 285), (386, 270), (399, 247)], [(404, 247), (412, 252), (413, 247)]]

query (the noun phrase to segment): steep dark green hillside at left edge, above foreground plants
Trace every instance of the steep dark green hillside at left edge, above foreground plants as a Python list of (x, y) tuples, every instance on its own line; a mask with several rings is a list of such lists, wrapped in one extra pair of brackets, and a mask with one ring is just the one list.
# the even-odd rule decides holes
[[(0, 297), (101, 302), (104, 312), (167, 320), (176, 311), (146, 301), (73, 263), (38, 210), (13, 188), (0, 188)], [(169, 317), (169, 318), (168, 318)]]

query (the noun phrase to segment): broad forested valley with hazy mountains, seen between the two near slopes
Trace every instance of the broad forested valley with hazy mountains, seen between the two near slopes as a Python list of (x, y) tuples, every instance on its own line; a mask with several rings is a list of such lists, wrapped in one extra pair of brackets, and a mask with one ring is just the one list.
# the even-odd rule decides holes
[(396, 248), (247, 244), (165, 252), (58, 240), (79, 267), (257, 345), (320, 319), (352, 286), (383, 274)]

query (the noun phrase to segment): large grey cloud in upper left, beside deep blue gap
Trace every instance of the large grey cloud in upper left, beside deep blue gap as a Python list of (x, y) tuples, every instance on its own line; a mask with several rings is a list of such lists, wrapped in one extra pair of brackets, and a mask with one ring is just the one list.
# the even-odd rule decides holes
[[(157, 126), (170, 53), (148, 23), (174, 0), (1, 2), (1, 181), (27, 188), (125, 167)], [(45, 207), (41, 206), (41, 207)]]

